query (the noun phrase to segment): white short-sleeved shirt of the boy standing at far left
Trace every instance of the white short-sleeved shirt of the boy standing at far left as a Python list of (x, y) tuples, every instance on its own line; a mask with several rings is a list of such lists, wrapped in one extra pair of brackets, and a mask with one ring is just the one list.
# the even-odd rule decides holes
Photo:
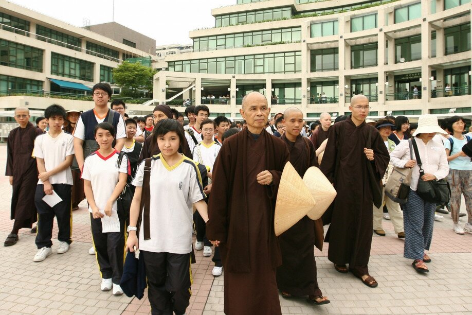
[[(56, 168), (59, 164), (65, 161), (66, 156), (74, 155), (74, 136), (61, 130), (61, 133), (53, 138), (46, 133), (40, 134), (34, 141), (33, 156), (35, 158), (43, 159), (46, 171)], [(66, 184), (72, 185), (72, 172), (70, 167), (49, 177), (51, 184)], [(43, 182), (38, 180), (38, 185)]]

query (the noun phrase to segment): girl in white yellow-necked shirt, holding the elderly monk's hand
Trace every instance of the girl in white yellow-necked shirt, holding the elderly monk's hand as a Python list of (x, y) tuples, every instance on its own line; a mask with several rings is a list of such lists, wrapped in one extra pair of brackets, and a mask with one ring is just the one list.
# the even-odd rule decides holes
[(184, 314), (191, 295), (192, 203), (206, 222), (206, 196), (196, 162), (178, 153), (180, 144), (186, 141), (178, 121), (160, 120), (152, 141), (157, 142), (161, 153), (150, 158), (149, 216), (145, 211), (138, 222), (141, 196), (146, 195), (142, 189), (146, 159), (133, 180), (136, 190), (126, 249), (134, 252), (139, 244), (152, 312)]

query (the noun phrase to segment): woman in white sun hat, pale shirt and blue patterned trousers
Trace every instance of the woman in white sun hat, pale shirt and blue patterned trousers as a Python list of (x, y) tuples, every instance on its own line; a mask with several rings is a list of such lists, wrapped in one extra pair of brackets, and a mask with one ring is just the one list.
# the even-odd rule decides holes
[[(419, 153), (413, 154), (413, 160), (410, 160), (408, 141), (402, 141), (390, 153), (390, 162), (394, 166), (413, 168), (410, 193), (403, 207), (403, 222), (406, 234), (403, 256), (413, 259), (411, 266), (421, 273), (429, 272), (425, 263), (429, 263), (431, 259), (425, 253), (425, 250), (429, 250), (431, 244), (436, 204), (421, 198), (417, 188), (419, 182), (424, 184), (429, 181), (441, 180), (449, 172), (446, 151), (441, 143), (432, 141), (437, 133), (445, 134), (445, 131), (438, 126), (438, 118), (429, 114), (422, 115), (418, 120), (418, 128), (411, 139), (413, 147), (417, 147), (415, 151)], [(423, 163), (420, 165), (420, 162)], [(420, 174), (420, 170), (424, 170), (424, 172)]]

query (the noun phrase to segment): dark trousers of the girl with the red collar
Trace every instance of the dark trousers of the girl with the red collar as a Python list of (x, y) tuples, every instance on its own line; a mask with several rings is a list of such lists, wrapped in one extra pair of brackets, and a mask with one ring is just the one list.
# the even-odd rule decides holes
[(112, 278), (114, 284), (120, 283), (124, 264), (124, 214), (118, 211), (118, 217), (120, 232), (103, 233), (101, 219), (94, 219), (90, 213), (90, 227), (98, 268), (102, 278)]

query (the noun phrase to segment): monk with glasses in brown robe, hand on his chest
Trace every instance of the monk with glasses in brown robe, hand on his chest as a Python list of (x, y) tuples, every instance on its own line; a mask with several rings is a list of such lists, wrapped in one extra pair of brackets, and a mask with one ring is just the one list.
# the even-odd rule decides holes
[[(330, 128), (320, 166), (325, 176), (334, 183), (337, 192), (325, 242), (330, 243), (328, 259), (334, 263), (337, 271), (347, 273), (346, 264), (349, 264), (349, 271), (361, 278), (364, 284), (376, 287), (378, 284), (369, 275), (367, 267), (373, 219), (373, 197), (367, 163), (373, 167), (376, 177), (381, 179), (390, 156), (378, 131), (365, 122), (369, 114), (367, 97), (360, 94), (352, 97), (349, 110), (352, 114), (346, 120)], [(370, 149), (367, 148), (369, 133), (372, 145)]]

